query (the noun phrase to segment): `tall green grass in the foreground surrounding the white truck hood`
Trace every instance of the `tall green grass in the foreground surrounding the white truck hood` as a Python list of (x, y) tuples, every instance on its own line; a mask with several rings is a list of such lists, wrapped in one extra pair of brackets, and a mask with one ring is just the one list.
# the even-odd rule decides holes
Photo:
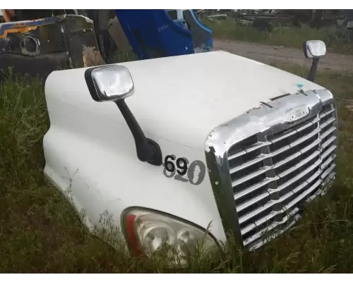
[[(280, 66), (306, 76), (301, 66)], [(317, 82), (352, 99), (352, 73), (318, 73)], [(65, 197), (44, 180), (42, 137), (49, 126), (43, 85), (12, 78), (0, 90), (0, 272), (174, 272), (164, 259), (129, 257), (90, 235)], [(232, 244), (195, 256), (179, 272), (353, 272), (353, 112), (338, 101), (338, 177), (290, 231), (256, 252)]]

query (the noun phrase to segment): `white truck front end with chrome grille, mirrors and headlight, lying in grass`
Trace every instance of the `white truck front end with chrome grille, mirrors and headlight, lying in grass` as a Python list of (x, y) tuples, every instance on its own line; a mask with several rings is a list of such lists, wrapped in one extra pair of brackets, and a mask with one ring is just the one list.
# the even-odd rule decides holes
[(304, 50), (309, 80), (225, 51), (54, 71), (44, 174), (136, 254), (229, 234), (255, 249), (335, 178), (333, 94), (310, 81), (325, 45)]

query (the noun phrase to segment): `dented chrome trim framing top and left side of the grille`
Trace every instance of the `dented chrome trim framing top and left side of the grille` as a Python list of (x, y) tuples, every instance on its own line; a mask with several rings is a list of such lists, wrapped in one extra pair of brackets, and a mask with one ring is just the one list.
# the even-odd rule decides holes
[(291, 128), (316, 116), (325, 104), (334, 102), (333, 94), (329, 90), (300, 90), (266, 103), (262, 102), (257, 108), (213, 128), (205, 140), (205, 159), (213, 194), (228, 238), (233, 234), (238, 243), (244, 246), (229, 173), (229, 148), (252, 135), (271, 135)]

